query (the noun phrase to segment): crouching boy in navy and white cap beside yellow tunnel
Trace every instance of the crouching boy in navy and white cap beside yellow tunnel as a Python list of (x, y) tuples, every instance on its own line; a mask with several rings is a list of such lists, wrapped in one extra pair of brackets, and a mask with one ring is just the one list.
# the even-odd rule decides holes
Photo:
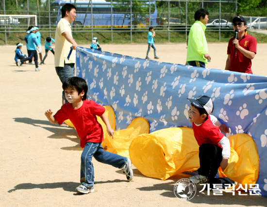
[(193, 124), (194, 135), (199, 144), (200, 168), (199, 175), (189, 177), (196, 185), (233, 183), (229, 178), (215, 178), (218, 167), (224, 170), (230, 158), (230, 142), (211, 121), (213, 102), (208, 96), (196, 99), (188, 98), (191, 102), (188, 111), (189, 121)]

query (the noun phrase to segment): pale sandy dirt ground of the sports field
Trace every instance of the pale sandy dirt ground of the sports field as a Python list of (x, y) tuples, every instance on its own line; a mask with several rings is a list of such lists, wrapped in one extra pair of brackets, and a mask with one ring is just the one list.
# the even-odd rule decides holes
[[(89, 47), (83, 46), (83, 47)], [(101, 45), (104, 51), (145, 58), (147, 45)], [(209, 43), (212, 57), (209, 68), (224, 69), (227, 43)], [(186, 44), (156, 44), (159, 61), (184, 64)], [(267, 44), (258, 44), (252, 71), (266, 76)], [(181, 206), (207, 207), (266, 206), (267, 198), (258, 195), (207, 194), (198, 187), (190, 201), (174, 195), (176, 175), (166, 181), (142, 175), (134, 166), (134, 179), (112, 166), (94, 160), (95, 190), (77, 194), (80, 184), (80, 148), (76, 131), (51, 125), (44, 112), (61, 107), (61, 82), (49, 53), (43, 70), (34, 65), (17, 67), (15, 46), (1, 46), (1, 97), (5, 98), (0, 116), (0, 206), (73, 207), (73, 206)], [(23, 53), (26, 48), (23, 46)], [(43, 47), (43, 56), (44, 56)], [(150, 51), (152, 58), (152, 51)]]

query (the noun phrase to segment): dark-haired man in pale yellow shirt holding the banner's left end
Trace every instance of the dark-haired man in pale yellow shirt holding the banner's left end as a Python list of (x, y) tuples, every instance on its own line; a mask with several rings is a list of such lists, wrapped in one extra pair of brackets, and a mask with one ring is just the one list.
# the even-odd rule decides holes
[[(76, 7), (73, 4), (66, 3), (62, 9), (62, 18), (57, 24), (55, 32), (55, 68), (56, 73), (63, 83), (70, 77), (75, 76), (76, 53), (73, 51), (68, 58), (70, 48), (76, 49), (77, 43), (74, 41), (71, 33), (70, 23), (75, 20)], [(65, 104), (65, 93), (62, 93), (62, 104)]]

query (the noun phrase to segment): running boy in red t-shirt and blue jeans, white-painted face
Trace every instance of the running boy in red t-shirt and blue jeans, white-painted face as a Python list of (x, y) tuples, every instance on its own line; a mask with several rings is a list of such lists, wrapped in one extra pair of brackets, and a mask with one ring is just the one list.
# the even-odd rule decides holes
[(53, 116), (53, 111), (47, 110), (46, 117), (52, 124), (62, 124), (69, 119), (80, 137), (80, 145), (83, 148), (81, 156), (81, 185), (76, 188), (77, 192), (86, 194), (94, 192), (94, 166), (92, 157), (99, 162), (110, 164), (119, 168), (126, 175), (127, 180), (133, 179), (132, 162), (129, 158), (103, 151), (101, 142), (103, 141), (103, 129), (97, 121), (96, 116), (100, 116), (107, 127), (108, 134), (112, 136), (114, 130), (110, 126), (107, 116), (104, 114), (105, 108), (93, 100), (87, 100), (87, 83), (79, 77), (67, 79), (62, 86), (67, 103)]

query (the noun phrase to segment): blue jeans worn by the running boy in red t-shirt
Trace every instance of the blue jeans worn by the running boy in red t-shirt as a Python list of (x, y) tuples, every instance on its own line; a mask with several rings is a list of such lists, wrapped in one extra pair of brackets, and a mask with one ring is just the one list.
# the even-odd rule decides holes
[(122, 168), (127, 162), (125, 157), (104, 151), (101, 143), (86, 143), (81, 156), (81, 184), (87, 188), (94, 186), (95, 175), (92, 157), (101, 163), (116, 168)]

